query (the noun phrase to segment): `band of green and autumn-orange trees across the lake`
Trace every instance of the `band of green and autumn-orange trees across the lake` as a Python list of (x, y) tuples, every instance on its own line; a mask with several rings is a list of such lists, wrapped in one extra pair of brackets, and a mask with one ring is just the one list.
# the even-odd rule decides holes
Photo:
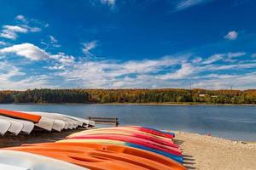
[(256, 104), (256, 90), (33, 89), (0, 91), (0, 103), (181, 103)]

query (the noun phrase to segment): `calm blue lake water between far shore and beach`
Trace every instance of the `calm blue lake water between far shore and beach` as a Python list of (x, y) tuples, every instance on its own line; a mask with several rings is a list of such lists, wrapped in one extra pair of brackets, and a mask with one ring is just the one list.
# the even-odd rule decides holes
[(163, 105), (0, 105), (17, 111), (49, 111), (72, 116), (119, 117), (121, 125), (141, 125), (227, 139), (256, 141), (256, 106)]

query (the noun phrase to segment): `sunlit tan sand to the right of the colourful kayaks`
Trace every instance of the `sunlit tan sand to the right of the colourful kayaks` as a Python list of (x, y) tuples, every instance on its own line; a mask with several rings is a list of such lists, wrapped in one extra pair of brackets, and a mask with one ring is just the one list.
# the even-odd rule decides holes
[(256, 169), (256, 143), (245, 143), (200, 135), (176, 133), (188, 169)]

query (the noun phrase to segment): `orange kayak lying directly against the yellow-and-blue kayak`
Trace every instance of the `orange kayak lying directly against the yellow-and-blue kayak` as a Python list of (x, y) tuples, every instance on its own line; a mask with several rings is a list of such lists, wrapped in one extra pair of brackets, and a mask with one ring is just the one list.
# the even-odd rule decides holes
[[(87, 150), (87, 148), (95, 149), (95, 150), (105, 150), (108, 152), (114, 153), (124, 153), (131, 156), (143, 157), (146, 159), (147, 164), (151, 165), (149, 161), (156, 161), (160, 164), (164, 164), (167, 167), (162, 169), (185, 169), (181, 164), (177, 163), (177, 161), (172, 161), (172, 159), (167, 158), (166, 156), (161, 156), (151, 151), (140, 150), (137, 148), (132, 148), (123, 145), (113, 145), (113, 144), (96, 144), (96, 143), (40, 143), (40, 144), (23, 144), (22, 146), (44, 146), (44, 147), (61, 147), (61, 148), (77, 148), (80, 147), (82, 150)], [(161, 166), (162, 167), (162, 166)], [(159, 167), (160, 168), (160, 167)]]

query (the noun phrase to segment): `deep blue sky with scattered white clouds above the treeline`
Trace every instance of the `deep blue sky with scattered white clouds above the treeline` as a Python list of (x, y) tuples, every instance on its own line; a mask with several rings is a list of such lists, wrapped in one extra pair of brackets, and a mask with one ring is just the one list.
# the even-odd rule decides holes
[(0, 88), (256, 88), (253, 0), (0, 0)]

